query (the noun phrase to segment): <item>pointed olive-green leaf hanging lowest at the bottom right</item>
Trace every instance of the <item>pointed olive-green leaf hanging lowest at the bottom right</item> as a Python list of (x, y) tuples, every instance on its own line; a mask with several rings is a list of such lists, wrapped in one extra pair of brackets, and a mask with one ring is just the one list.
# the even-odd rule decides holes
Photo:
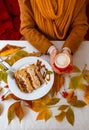
[(66, 112), (66, 119), (71, 125), (74, 125), (74, 112), (70, 107)]

